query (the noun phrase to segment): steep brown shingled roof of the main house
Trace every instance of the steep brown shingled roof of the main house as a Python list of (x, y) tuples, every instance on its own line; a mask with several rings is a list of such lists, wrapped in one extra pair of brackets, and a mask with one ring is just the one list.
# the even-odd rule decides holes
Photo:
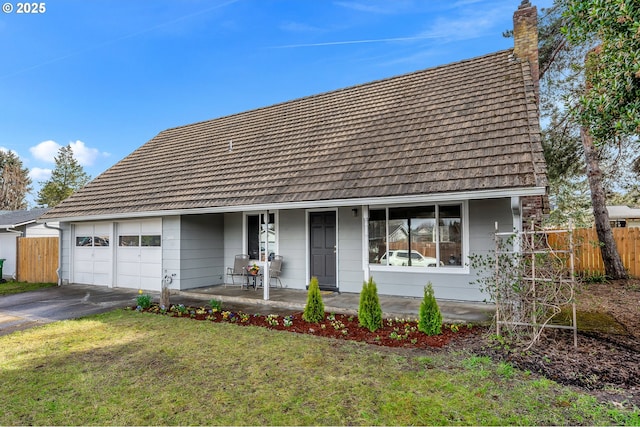
[(160, 132), (44, 218), (544, 189), (512, 50)]

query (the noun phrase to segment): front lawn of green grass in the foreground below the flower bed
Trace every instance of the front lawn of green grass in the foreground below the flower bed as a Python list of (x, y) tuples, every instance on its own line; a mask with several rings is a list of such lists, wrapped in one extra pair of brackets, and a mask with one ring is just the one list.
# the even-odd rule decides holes
[(116, 310), (0, 337), (0, 425), (611, 425), (488, 358)]

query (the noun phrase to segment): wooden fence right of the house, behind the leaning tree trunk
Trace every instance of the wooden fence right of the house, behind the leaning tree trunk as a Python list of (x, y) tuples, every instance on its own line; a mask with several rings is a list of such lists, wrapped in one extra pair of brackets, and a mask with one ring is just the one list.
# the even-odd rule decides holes
[[(622, 258), (622, 264), (631, 277), (640, 277), (640, 228), (613, 228), (613, 238)], [(549, 243), (564, 249), (566, 233), (549, 234)], [(604, 263), (595, 228), (577, 228), (573, 231), (575, 269), (581, 274), (604, 275)]]

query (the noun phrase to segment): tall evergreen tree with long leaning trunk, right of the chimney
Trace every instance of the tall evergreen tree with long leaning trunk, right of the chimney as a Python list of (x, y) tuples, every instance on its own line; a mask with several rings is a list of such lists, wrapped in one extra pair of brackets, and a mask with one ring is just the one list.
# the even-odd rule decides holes
[[(616, 13), (616, 8), (619, 9), (619, 13)], [(634, 43), (638, 41), (638, 33), (634, 35), (626, 28), (631, 26), (637, 30), (637, 9), (638, 6), (625, 0), (555, 0), (553, 7), (545, 11), (539, 28), (541, 111), (546, 110), (547, 114), (555, 116), (556, 119), (562, 117), (555, 122), (551, 120), (552, 126), (570, 128), (569, 134), (573, 135), (563, 140), (559, 139), (558, 135), (566, 135), (566, 132), (557, 132), (555, 129), (549, 133), (547, 136), (551, 136), (553, 142), (545, 147), (545, 158), (549, 164), (555, 162), (554, 167), (550, 168), (551, 172), (560, 171), (556, 175), (556, 184), (562, 179), (575, 184), (579, 181), (574, 175), (577, 171), (565, 166), (570, 163), (576, 152), (576, 141), (581, 143), (584, 172), (580, 172), (580, 175), (587, 176), (598, 240), (606, 274), (610, 278), (625, 278), (627, 274), (609, 224), (606, 209), (606, 176), (601, 164), (610, 160), (608, 156), (612, 147), (622, 145), (624, 135), (629, 135), (634, 127), (638, 129), (636, 121), (639, 120), (639, 116), (634, 113), (638, 111), (637, 106), (634, 107), (638, 96), (636, 93), (629, 98), (626, 92), (634, 93), (634, 85), (638, 81), (634, 83), (633, 80), (640, 78), (640, 74), (636, 75), (637, 60), (632, 61), (635, 65), (626, 67), (626, 74), (605, 70), (607, 66), (617, 66), (620, 58), (637, 59), (639, 50)], [(613, 21), (626, 29), (619, 31), (620, 29), (602, 27), (613, 24)], [(623, 36), (620, 37), (620, 34)], [(627, 42), (627, 36), (635, 37), (636, 42)], [(605, 43), (604, 40), (607, 38), (610, 41)], [(597, 58), (585, 61), (586, 53), (598, 43), (607, 44), (608, 49), (613, 45), (624, 51), (635, 51), (627, 51), (625, 54), (618, 52), (602, 57), (598, 55)], [(594, 79), (585, 73), (587, 67), (590, 70), (589, 76), (604, 73), (598, 75), (606, 78), (607, 83), (595, 84)], [(630, 69), (635, 69), (633, 74), (630, 74)], [(592, 90), (587, 90), (587, 87), (591, 87)], [(616, 101), (611, 102), (609, 98)], [(615, 107), (611, 109), (612, 106)], [(620, 114), (616, 115), (616, 109)], [(597, 117), (596, 112), (602, 113), (602, 117)], [(595, 143), (591, 132), (598, 136)], [(553, 178), (550, 181), (553, 188)], [(562, 184), (556, 185), (557, 188), (561, 186)], [(580, 203), (576, 205), (579, 206)]]

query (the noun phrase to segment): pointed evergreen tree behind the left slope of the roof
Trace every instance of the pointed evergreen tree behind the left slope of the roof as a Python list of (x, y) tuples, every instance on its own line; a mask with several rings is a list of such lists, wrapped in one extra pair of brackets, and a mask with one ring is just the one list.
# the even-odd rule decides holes
[(40, 206), (56, 206), (91, 180), (73, 157), (71, 145), (60, 147), (55, 162), (56, 167), (51, 172), (51, 178), (41, 183), (43, 186), (36, 201)]

